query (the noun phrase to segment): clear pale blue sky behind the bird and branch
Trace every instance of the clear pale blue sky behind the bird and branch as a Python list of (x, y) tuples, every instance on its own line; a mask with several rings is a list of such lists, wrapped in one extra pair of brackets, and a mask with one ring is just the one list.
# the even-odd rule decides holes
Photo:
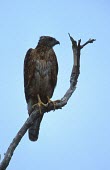
[(26, 51), (42, 35), (60, 41), (53, 99), (69, 87), (73, 63), (68, 32), (82, 43), (77, 89), (62, 109), (45, 114), (39, 140), (23, 137), (8, 170), (110, 170), (110, 1), (0, 1), (0, 154), (28, 117), (23, 89)]

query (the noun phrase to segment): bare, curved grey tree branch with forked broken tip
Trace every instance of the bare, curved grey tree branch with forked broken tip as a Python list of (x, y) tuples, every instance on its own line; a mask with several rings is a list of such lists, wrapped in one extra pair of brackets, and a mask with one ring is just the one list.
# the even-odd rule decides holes
[[(71, 77), (70, 77), (70, 87), (67, 90), (67, 92), (65, 93), (65, 95), (60, 100), (56, 100), (55, 101), (55, 103), (56, 103), (55, 109), (56, 110), (57, 109), (61, 109), (62, 107), (64, 107), (67, 104), (69, 98), (71, 97), (71, 95), (73, 94), (73, 92), (76, 89), (76, 84), (77, 84), (78, 76), (79, 76), (79, 73), (80, 73), (80, 51), (81, 51), (81, 49), (85, 45), (87, 45), (89, 43), (93, 43), (95, 41), (95, 39), (89, 39), (86, 43), (81, 45), (81, 39), (77, 43), (70, 36), (70, 34), (69, 34), (69, 37), (70, 37), (70, 40), (72, 42), (72, 50), (73, 50), (73, 56), (74, 56), (74, 65), (73, 65), (72, 73), (71, 73)], [(52, 103), (49, 103), (48, 107), (42, 106), (42, 108), (41, 108), (42, 113), (49, 112), (51, 110), (54, 110), (54, 106), (53, 106)], [(27, 132), (29, 127), (32, 126), (33, 122), (36, 119), (39, 118), (39, 114), (40, 114), (39, 113), (39, 107), (35, 106), (32, 114), (26, 120), (26, 122), (21, 127), (21, 129), (19, 130), (19, 132), (17, 133), (17, 135), (13, 139), (12, 143), (8, 147), (7, 152), (5, 153), (4, 159), (2, 160), (2, 162), (0, 164), (0, 170), (5, 170), (7, 168), (7, 166), (9, 165), (9, 162), (10, 162), (12, 156), (13, 156), (14, 150), (18, 146), (19, 142), (21, 141), (22, 137), (25, 135), (25, 133)]]

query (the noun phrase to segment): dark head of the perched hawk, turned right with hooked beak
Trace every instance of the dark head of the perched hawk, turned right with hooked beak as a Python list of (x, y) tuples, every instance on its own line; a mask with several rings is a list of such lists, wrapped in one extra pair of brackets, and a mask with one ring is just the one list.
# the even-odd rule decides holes
[(51, 48), (57, 44), (60, 44), (60, 42), (50, 36), (41, 36), (38, 42), (38, 45), (45, 45)]

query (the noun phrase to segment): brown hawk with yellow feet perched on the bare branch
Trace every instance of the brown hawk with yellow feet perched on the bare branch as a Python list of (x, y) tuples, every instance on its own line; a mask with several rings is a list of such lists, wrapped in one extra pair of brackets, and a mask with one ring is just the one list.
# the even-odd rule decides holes
[[(24, 60), (24, 90), (28, 114), (33, 105), (48, 103), (52, 97), (58, 74), (58, 63), (53, 47), (60, 44), (55, 38), (42, 36), (35, 49), (30, 48)], [(29, 129), (29, 139), (36, 141), (43, 114)]]

